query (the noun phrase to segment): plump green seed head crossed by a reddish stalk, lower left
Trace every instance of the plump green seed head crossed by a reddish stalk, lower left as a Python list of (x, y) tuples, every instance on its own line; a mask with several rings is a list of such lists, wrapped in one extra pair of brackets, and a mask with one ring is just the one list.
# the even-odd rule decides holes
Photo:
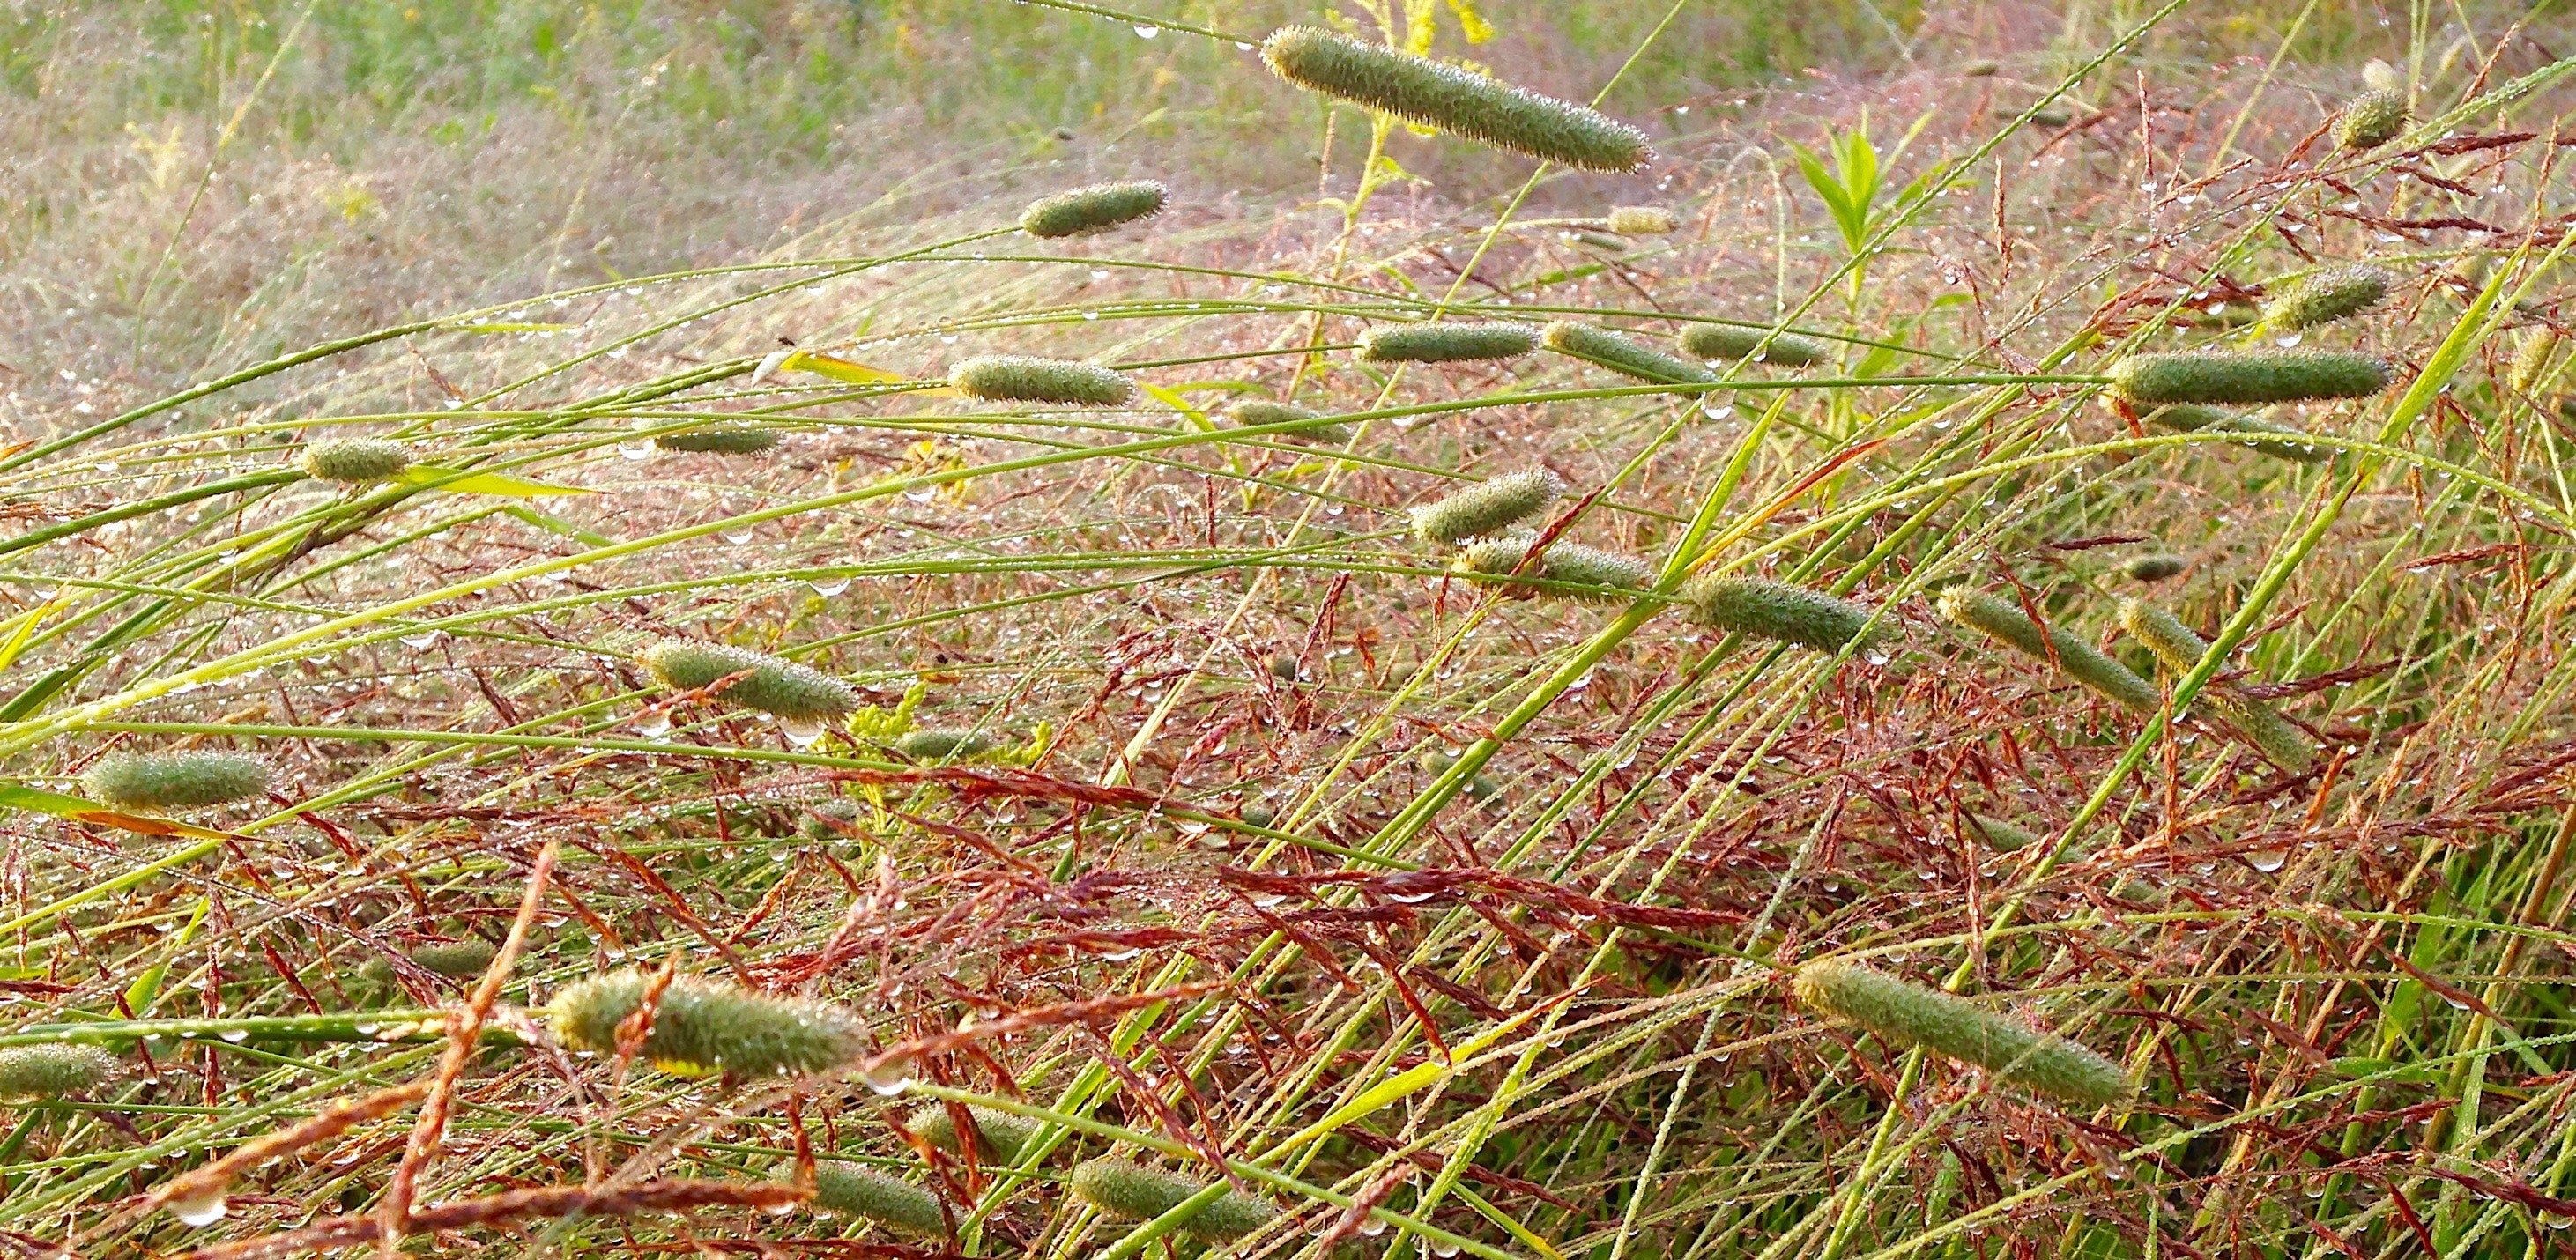
[[(567, 987), (546, 1007), (554, 1036), (577, 1051), (613, 1054), (618, 1020), (644, 1002), (644, 971), (611, 971)], [(677, 977), (654, 1005), (644, 1056), (675, 1072), (786, 1077), (829, 1072), (866, 1051), (858, 1015), (832, 1002), (762, 997)]]

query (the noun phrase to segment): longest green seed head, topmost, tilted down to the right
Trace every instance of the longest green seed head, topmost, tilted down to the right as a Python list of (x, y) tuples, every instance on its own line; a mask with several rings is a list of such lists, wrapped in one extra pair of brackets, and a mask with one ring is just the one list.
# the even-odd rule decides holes
[(1618, 173), (1654, 160), (1643, 131), (1600, 111), (1316, 26), (1270, 31), (1262, 62), (1309, 93), (1577, 170)]

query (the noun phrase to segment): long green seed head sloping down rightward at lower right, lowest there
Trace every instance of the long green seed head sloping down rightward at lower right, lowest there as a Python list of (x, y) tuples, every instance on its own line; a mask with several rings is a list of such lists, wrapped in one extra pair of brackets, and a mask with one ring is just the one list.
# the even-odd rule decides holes
[(1808, 1010), (1868, 1028), (1899, 1046), (1924, 1046), (1971, 1062), (1996, 1080), (2058, 1103), (2099, 1108), (2128, 1098), (2128, 1074), (2120, 1064), (1886, 971), (1814, 961), (1798, 969), (1795, 989), (1798, 1005)]

